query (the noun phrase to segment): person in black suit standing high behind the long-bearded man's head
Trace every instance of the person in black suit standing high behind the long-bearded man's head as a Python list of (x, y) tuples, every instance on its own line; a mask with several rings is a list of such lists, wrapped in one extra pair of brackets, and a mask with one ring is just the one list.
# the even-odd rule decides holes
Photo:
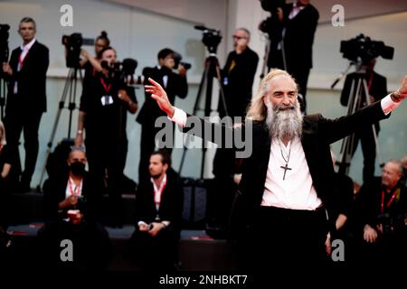
[(317, 8), (309, 4), (309, 0), (280, 5), (274, 13), (265, 24), (260, 23), (260, 29), (270, 35), (268, 67), (287, 70), (297, 80), (298, 94), (302, 96), (301, 112), (305, 113), (308, 76), (312, 68), (312, 46), (319, 14)]

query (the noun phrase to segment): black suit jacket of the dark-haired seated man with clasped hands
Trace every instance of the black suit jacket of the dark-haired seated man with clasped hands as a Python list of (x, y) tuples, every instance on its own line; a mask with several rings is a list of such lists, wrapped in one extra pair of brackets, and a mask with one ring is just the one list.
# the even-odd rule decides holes
[(170, 227), (181, 228), (183, 211), (183, 190), (181, 182), (172, 170), (167, 171), (167, 183), (161, 195), (159, 210), (154, 202), (154, 187), (150, 180), (140, 183), (136, 194), (136, 224), (143, 220), (147, 224), (155, 221), (157, 214), (161, 220), (169, 220)]

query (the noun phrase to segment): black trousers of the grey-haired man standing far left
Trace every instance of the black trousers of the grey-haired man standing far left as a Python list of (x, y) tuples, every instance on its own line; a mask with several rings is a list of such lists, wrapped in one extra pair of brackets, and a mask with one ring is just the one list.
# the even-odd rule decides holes
[(5, 116), (5, 131), (7, 135), (7, 143), (14, 148), (14, 163), (20, 163), (20, 155), (18, 154), (18, 143), (20, 135), (24, 134), (24, 171), (22, 173), (21, 182), (24, 187), (30, 185), (37, 163), (38, 156), (38, 129), (40, 127), (41, 117), (43, 112), (24, 112), (24, 109), (14, 113), (7, 113)]

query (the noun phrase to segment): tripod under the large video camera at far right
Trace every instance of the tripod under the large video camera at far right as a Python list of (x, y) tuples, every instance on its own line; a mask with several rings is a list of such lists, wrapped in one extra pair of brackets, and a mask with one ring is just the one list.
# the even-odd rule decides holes
[[(352, 65), (352, 63), (351, 63)], [(336, 81), (337, 82), (337, 81)], [(335, 85), (336, 83), (334, 83)], [(333, 85), (333, 86), (334, 86)], [(355, 78), (352, 79), (350, 92), (348, 96), (348, 109), (347, 114), (354, 114), (356, 110), (360, 109), (363, 104), (369, 106), (371, 104), (369, 89), (367, 89), (367, 82), (365, 79), (365, 71), (360, 68), (356, 69)], [(382, 164), (380, 157), (379, 144), (377, 142), (376, 127), (372, 125), (372, 133), (374, 136), (374, 145), (379, 163)], [(356, 144), (357, 145), (357, 144)], [(349, 167), (352, 162), (352, 156), (355, 151), (355, 134), (348, 135), (341, 144), (341, 161), (339, 163), (339, 172), (348, 174)]]

